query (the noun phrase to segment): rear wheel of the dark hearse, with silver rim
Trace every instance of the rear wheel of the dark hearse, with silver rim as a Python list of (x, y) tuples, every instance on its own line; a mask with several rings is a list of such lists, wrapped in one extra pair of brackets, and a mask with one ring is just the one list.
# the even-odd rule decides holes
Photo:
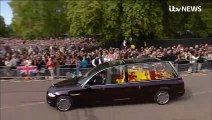
[(170, 100), (169, 92), (167, 90), (158, 91), (154, 96), (154, 100), (159, 105), (167, 104)]

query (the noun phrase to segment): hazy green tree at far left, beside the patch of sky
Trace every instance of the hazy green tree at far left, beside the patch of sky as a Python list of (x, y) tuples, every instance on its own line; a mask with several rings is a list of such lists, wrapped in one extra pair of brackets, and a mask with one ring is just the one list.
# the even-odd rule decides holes
[(13, 0), (13, 30), (26, 39), (50, 37), (67, 31), (66, 6), (57, 0)]

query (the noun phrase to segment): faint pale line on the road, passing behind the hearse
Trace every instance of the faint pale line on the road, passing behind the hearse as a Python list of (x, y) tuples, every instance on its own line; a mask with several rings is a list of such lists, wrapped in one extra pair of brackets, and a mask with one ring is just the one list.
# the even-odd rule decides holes
[[(208, 93), (212, 93), (212, 90), (196, 92), (196, 93), (192, 93), (191, 95), (197, 96), (197, 95), (208, 94)], [(46, 102), (26, 103), (26, 104), (15, 105), (15, 106), (1, 107), (0, 110), (5, 110), (5, 109), (10, 109), (10, 108), (15, 108), (15, 107), (34, 106), (34, 105), (39, 105), (39, 104), (44, 104), (44, 103), (46, 103)]]

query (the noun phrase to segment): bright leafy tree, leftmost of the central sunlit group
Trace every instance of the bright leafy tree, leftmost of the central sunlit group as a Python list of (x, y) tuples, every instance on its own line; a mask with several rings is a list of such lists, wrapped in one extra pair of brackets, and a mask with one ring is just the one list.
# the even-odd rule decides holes
[(71, 36), (95, 36), (101, 28), (99, 0), (68, 1), (67, 18)]

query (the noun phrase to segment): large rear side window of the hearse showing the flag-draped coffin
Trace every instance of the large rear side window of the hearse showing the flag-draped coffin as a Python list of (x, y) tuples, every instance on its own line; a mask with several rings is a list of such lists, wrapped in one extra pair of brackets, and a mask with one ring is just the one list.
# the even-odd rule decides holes
[(168, 62), (131, 64), (127, 68), (128, 82), (176, 78), (176, 74)]

